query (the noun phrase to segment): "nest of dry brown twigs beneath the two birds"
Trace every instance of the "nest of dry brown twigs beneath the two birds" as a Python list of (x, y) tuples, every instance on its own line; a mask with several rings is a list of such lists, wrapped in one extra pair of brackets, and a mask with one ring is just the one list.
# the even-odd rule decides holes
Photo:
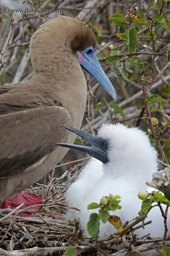
[[(64, 218), (68, 209), (64, 193), (77, 176), (81, 165), (70, 168), (60, 178), (53, 177), (53, 170), (47, 185), (36, 183), (36, 187), (23, 191), (34, 192), (44, 199), (38, 210), (30, 210), (29, 207), (22, 210), (0, 209), (0, 255), (63, 255), (68, 248), (77, 244), (76, 255), (81, 253), (81, 255), (147, 256), (148, 250), (161, 249), (162, 237), (151, 239), (149, 236), (142, 238), (132, 236), (133, 226), (140, 222), (137, 228), (142, 228), (141, 220), (146, 216), (132, 220), (122, 232), (117, 231), (104, 238), (85, 237), (78, 227), (79, 220), (68, 221)], [(10, 213), (6, 215), (4, 212)], [(34, 216), (22, 217), (22, 213)], [(170, 237), (167, 237), (165, 244), (170, 245), (169, 241)]]

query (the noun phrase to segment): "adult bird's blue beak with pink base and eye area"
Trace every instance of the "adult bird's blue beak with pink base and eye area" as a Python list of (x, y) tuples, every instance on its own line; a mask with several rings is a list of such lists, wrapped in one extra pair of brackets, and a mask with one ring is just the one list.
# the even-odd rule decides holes
[(116, 92), (113, 85), (100, 66), (96, 52), (93, 47), (88, 47), (84, 51), (77, 51), (78, 62), (116, 101)]

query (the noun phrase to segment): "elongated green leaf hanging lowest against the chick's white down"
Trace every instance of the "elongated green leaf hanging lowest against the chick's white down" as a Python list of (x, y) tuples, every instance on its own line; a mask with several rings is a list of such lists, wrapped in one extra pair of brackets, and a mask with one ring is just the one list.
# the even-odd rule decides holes
[(97, 213), (92, 213), (90, 215), (90, 220), (87, 223), (87, 231), (90, 236), (95, 237), (99, 230), (99, 215)]

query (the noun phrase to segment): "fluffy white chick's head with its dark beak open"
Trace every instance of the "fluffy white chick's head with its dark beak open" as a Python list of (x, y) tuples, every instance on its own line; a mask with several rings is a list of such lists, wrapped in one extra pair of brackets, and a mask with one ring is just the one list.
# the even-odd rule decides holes
[[(67, 125), (61, 125), (71, 132), (89, 141), (94, 147), (81, 145), (71, 145), (57, 143), (62, 147), (73, 148), (82, 151), (100, 160), (108, 170), (117, 170), (119, 173), (134, 172), (140, 166), (146, 166), (146, 172), (150, 168), (150, 163), (154, 163), (151, 168), (157, 169), (157, 153), (151, 146), (148, 136), (138, 128), (128, 128), (123, 124), (103, 124), (98, 131), (98, 135), (82, 132)], [(151, 158), (154, 161), (151, 161)], [(144, 169), (144, 168), (143, 168)]]

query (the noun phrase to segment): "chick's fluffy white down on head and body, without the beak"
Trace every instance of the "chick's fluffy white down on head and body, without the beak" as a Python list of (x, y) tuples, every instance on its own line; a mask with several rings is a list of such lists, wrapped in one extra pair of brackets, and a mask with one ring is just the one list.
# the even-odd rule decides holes
[[(79, 218), (85, 236), (89, 236), (86, 227), (90, 214), (99, 213), (99, 209), (87, 210), (87, 206), (93, 202), (100, 203), (103, 196), (121, 196), (119, 205), (122, 208), (109, 213), (119, 216), (122, 224), (139, 216), (142, 200), (138, 198), (138, 193), (141, 190), (153, 190), (145, 182), (152, 180), (152, 173), (158, 168), (157, 152), (145, 132), (138, 128), (128, 128), (119, 123), (103, 124), (98, 136), (109, 141), (109, 162), (102, 164), (95, 158), (90, 159), (66, 193), (67, 203), (81, 210), (70, 209), (66, 218)], [(159, 207), (149, 212), (145, 221), (148, 220), (152, 220), (152, 224), (145, 229), (137, 229), (135, 233), (138, 236), (148, 233), (152, 237), (163, 236), (164, 219)], [(105, 224), (100, 222), (100, 237), (106, 236), (103, 231), (110, 234), (117, 230), (107, 221)]]

